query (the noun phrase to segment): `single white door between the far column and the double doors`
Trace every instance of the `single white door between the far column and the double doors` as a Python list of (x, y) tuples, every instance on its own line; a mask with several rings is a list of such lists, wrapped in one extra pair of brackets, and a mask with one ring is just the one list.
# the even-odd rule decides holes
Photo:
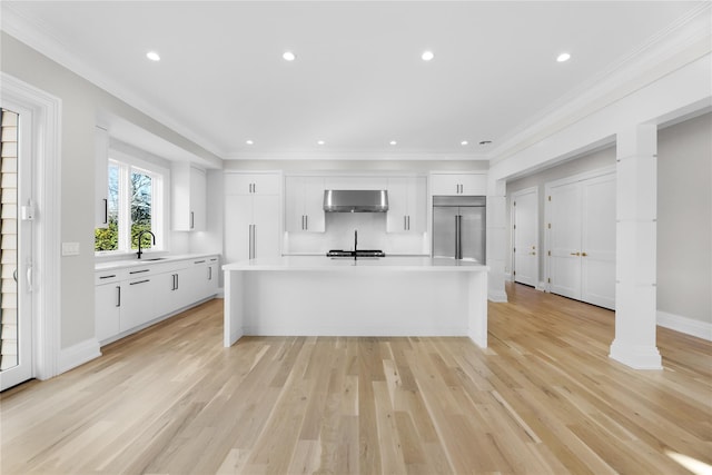
[(538, 280), (538, 192), (536, 188), (512, 195), (514, 281), (536, 287)]

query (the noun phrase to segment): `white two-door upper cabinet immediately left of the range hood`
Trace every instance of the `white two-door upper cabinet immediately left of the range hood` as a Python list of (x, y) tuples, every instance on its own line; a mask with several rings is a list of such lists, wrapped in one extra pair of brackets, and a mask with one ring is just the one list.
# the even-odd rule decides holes
[(324, 232), (324, 177), (285, 178), (285, 225), (287, 232)]

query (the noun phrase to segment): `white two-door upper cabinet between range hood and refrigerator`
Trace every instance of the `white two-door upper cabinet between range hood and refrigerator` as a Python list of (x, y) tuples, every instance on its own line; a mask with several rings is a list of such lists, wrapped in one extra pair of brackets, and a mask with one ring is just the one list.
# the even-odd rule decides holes
[(427, 179), (388, 178), (387, 232), (425, 232), (427, 221)]

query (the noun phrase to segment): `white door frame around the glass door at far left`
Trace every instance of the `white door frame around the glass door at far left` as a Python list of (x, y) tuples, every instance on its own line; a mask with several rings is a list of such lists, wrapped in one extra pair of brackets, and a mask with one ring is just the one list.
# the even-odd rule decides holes
[(59, 373), (61, 100), (0, 71), (2, 107), (29, 112), (32, 120), (32, 377)]

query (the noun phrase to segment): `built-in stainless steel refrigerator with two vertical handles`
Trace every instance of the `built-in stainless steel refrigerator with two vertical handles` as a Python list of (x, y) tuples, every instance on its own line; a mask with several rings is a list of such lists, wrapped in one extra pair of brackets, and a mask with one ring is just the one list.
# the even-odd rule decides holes
[(486, 197), (433, 197), (433, 257), (485, 264)]

